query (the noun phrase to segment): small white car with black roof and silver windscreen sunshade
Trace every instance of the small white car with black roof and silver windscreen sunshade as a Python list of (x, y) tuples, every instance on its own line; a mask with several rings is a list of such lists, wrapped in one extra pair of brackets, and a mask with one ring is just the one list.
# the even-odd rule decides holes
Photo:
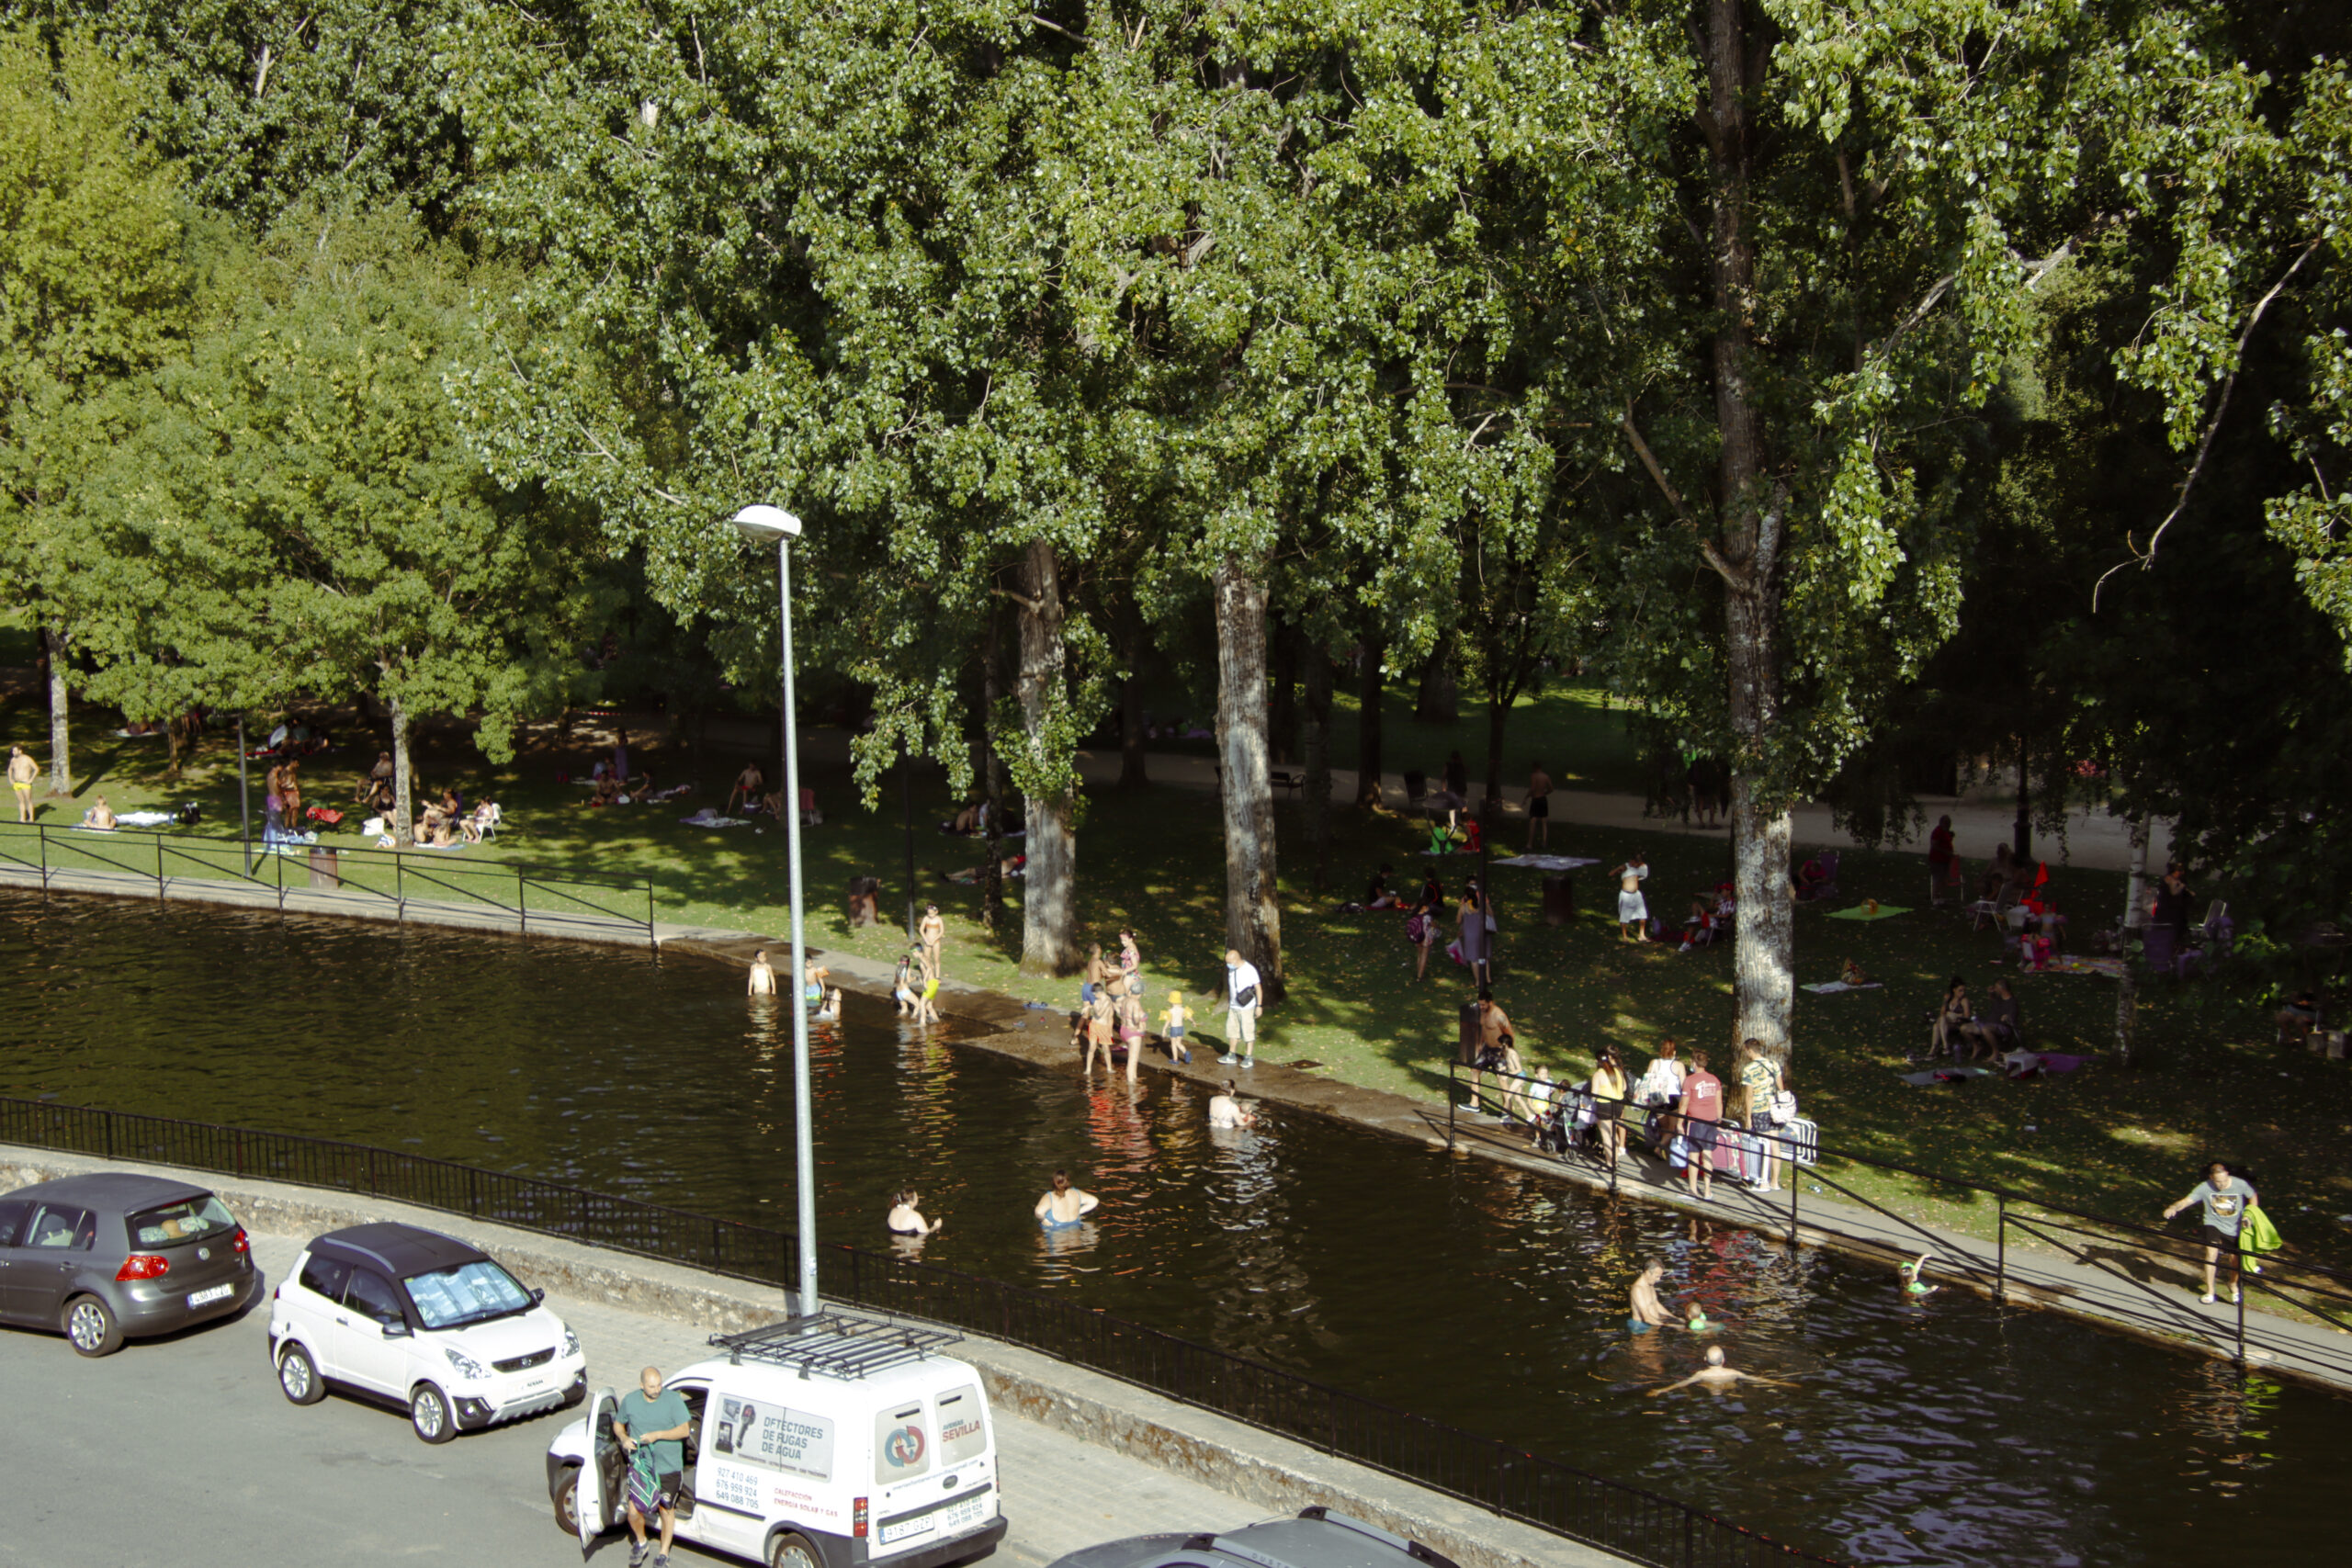
[(416, 1225), (327, 1232), (270, 1293), (270, 1363), (299, 1406), (334, 1382), (407, 1408), (416, 1436), (576, 1406), (588, 1356), (546, 1291), (480, 1248)]

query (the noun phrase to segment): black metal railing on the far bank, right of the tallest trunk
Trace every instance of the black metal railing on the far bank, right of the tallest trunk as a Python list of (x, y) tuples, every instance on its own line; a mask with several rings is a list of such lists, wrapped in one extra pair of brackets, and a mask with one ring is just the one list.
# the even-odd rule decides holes
[[(1465, 1086), (1470, 1100), (1458, 1103), (1456, 1095), (1461, 1095)], [(1446, 1067), (1449, 1150), (1461, 1138), (1461, 1126), (1456, 1117), (1463, 1110), (1463, 1105), (1472, 1107), (1477, 1114), (1501, 1117), (1505, 1121), (1519, 1124), (1531, 1133), (1536, 1133), (1541, 1124), (1543, 1128), (1552, 1131), (1550, 1143), (1552, 1147), (1559, 1150), (1559, 1159), (1585, 1161), (1592, 1166), (1597, 1175), (1606, 1178), (1611, 1192), (1621, 1190), (1623, 1161), (1602, 1157), (1602, 1152), (1595, 1145), (1595, 1138), (1590, 1135), (1595, 1119), (1588, 1117), (1585, 1112), (1595, 1105), (1595, 1100), (1585, 1086), (1564, 1081), (1555, 1084), (1548, 1079), (1534, 1079), (1529, 1074), (1496, 1072), (1491, 1067), (1477, 1070), (1454, 1063)], [(1668, 1110), (1670, 1107), (1649, 1107), (1628, 1103), (1621, 1112), (1621, 1119), (1628, 1128), (1628, 1147), (1632, 1147), (1635, 1138), (1644, 1143), (1656, 1143), (1653, 1138), (1649, 1138), (1651, 1131), (1649, 1124), (1653, 1117), (1668, 1114)], [(1559, 1135), (1562, 1121), (1566, 1124), (1566, 1135)], [(1748, 1227), (1759, 1227), (1762, 1222), (1769, 1222), (1773, 1229), (1785, 1227), (1790, 1246), (1797, 1246), (1797, 1227), (1799, 1227), (1797, 1204), (1802, 1187), (1802, 1182), (1795, 1180), (1795, 1175), (1790, 1173), (1790, 1166), (1802, 1166), (1806, 1180), (1820, 1182), (1823, 1187), (1835, 1190), (1842, 1199), (1870, 1208), (1882, 1220), (1886, 1220), (1896, 1232), (1905, 1232), (1905, 1246), (1917, 1248), (1922, 1253), (1933, 1253), (1945, 1269), (1971, 1279), (1978, 1288), (1990, 1293), (2002, 1305), (2006, 1305), (2013, 1293), (2025, 1298), (2051, 1295), (2049, 1286), (2030, 1281), (2020, 1269), (2011, 1265), (2009, 1232), (2016, 1229), (2023, 1237), (2030, 1237), (2058, 1253), (2065, 1253), (2067, 1258), (2072, 1258), (2084, 1267), (2098, 1269), (2110, 1281), (2112, 1288), (2096, 1302), (2086, 1302), (2079, 1298), (2074, 1302), (2086, 1309), (2093, 1309), (2098, 1316), (2107, 1316), (2126, 1326), (2145, 1328), (2169, 1338), (2230, 1340), (2232, 1359), (2237, 1361), (2239, 1368), (2249, 1366), (2249, 1345), (2251, 1345), (2253, 1347), (2251, 1354), (2256, 1359), (2267, 1356), (2277, 1361), (2281, 1354), (2291, 1354), (2300, 1361), (2307, 1361), (2312, 1368), (2333, 1373), (2336, 1378), (2352, 1378), (2352, 1349), (2340, 1345), (2336, 1335), (2288, 1345), (2279, 1340), (2274, 1331), (2265, 1333), (2260, 1326), (2256, 1326), (2256, 1331), (2249, 1333), (2246, 1326), (2246, 1298), (2263, 1295), (2279, 1302), (2281, 1307), (2288, 1307), (2291, 1312), (2310, 1314), (2312, 1319), (2319, 1319), (2321, 1324), (2340, 1333), (2352, 1333), (2352, 1274), (2343, 1269), (2272, 1253), (2256, 1260), (2260, 1272), (2251, 1272), (2246, 1267), (2249, 1258), (2244, 1258), (2241, 1253), (2225, 1253), (2220, 1258), (2218, 1276), (2227, 1279), (2227, 1284), (2232, 1286), (2234, 1300), (2230, 1305), (2237, 1312), (2227, 1326), (2227, 1333), (2216, 1335), (2216, 1324), (2209, 1316), (2190, 1309), (2190, 1305), (2180, 1300), (2178, 1291), (2166, 1291), (2159, 1284), (2152, 1284), (2150, 1279), (2143, 1276), (2152, 1272), (2147, 1267), (2152, 1262), (2183, 1265), (2192, 1269), (2192, 1274), (2201, 1272), (2204, 1241), (2199, 1239), (2180, 1237), (2178, 1232), (2169, 1232), (2154, 1225), (2143, 1225), (2138, 1220), (2114, 1220), (2110, 1215), (2098, 1215), (2082, 1208), (2067, 1208), (2065, 1204), (2051, 1204), (2049, 1199), (2039, 1199), (2034, 1194), (2018, 1192), (2013, 1187), (1971, 1182), (1943, 1171), (1924, 1171), (1919, 1166), (1910, 1166), (1896, 1159), (1879, 1159), (1875, 1154), (1856, 1154), (1851, 1150), (1823, 1147), (1818, 1138), (1799, 1140), (1790, 1133), (1773, 1128), (1738, 1126), (1731, 1119), (1724, 1119), (1722, 1126), (1736, 1133), (1738, 1138), (1755, 1140), (1757, 1145), (1769, 1150), (1776, 1157), (1780, 1173), (1785, 1175), (1783, 1180), (1783, 1192), (1788, 1197), (1785, 1215), (1778, 1213), (1778, 1208), (1766, 1213), (1762, 1208), (1762, 1197), (1759, 1197), (1757, 1208), (1752, 1213), (1736, 1215), (1738, 1222)], [(1903, 1215), (1863, 1192), (1856, 1192), (1846, 1182), (1839, 1182), (1835, 1175), (1820, 1168), (1820, 1161), (1835, 1161), (1839, 1166), (1863, 1166), (1870, 1171), (1903, 1175), (1907, 1180), (1938, 1187), (1955, 1197), (1971, 1194), (1978, 1199), (1992, 1199), (1994, 1255), (1990, 1260), (1983, 1260), (1952, 1248), (1950, 1237), (1919, 1225), (1910, 1215)], [(1816, 1218), (1813, 1227), (1816, 1232), (1835, 1232), (1835, 1225), (1830, 1225), (1825, 1218)], [(1870, 1241), (1875, 1246), (1886, 1246), (1884, 1237), (1856, 1237), (1856, 1239)]]

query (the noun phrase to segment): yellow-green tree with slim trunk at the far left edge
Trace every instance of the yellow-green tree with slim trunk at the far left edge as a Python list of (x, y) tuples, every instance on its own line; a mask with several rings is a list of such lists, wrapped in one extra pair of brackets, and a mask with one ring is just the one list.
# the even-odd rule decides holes
[(87, 604), (78, 491), (113, 449), (111, 388), (188, 324), (179, 172), (85, 35), (0, 33), (0, 571), (49, 654), (49, 790), (73, 790), (68, 656)]

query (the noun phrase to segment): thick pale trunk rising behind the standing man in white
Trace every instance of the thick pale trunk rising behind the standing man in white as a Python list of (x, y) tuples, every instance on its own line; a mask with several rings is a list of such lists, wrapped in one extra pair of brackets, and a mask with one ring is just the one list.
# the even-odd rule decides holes
[(1225, 945), (1282, 990), (1282, 903), (1275, 889), (1275, 785), (1265, 776), (1265, 585), (1225, 557), (1216, 567), (1216, 752), (1225, 804)]

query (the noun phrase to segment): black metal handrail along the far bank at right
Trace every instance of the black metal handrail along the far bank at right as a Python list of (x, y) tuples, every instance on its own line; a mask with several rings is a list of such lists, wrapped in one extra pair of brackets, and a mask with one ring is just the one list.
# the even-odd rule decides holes
[[(1484, 1110), (1486, 1105), (1494, 1105), (1496, 1114), (1503, 1114), (1503, 1117), (1512, 1117), (1512, 1114), (1517, 1114), (1517, 1110), (1524, 1110), (1526, 1103), (1529, 1103), (1529, 1098), (1531, 1098), (1529, 1088), (1536, 1086), (1538, 1081), (1543, 1084), (1543, 1091), (1545, 1091), (1545, 1095), (1550, 1100), (1555, 1100), (1555, 1103), (1559, 1103), (1559, 1105), (1564, 1105), (1569, 1110), (1581, 1110), (1581, 1105), (1585, 1105), (1585, 1103), (1592, 1100), (1592, 1093), (1588, 1088), (1583, 1088), (1583, 1086), (1576, 1086), (1576, 1084), (1543, 1081), (1543, 1079), (1534, 1079), (1534, 1077), (1529, 1077), (1524, 1072), (1501, 1072), (1496, 1067), (1468, 1067), (1463, 1063), (1449, 1063), (1446, 1065), (1446, 1147), (1449, 1150), (1454, 1147), (1454, 1143), (1458, 1138), (1456, 1121), (1454, 1121), (1454, 1112), (1456, 1112), (1454, 1095), (1463, 1086), (1463, 1074), (1470, 1074), (1470, 1093), (1475, 1095), (1475, 1105), (1479, 1110)], [(1529, 1086), (1529, 1088), (1489, 1091), (1486, 1088), (1486, 1079), (1494, 1079), (1496, 1084), (1517, 1084), (1517, 1086)], [(1668, 1107), (1649, 1107), (1649, 1105), (1637, 1105), (1632, 1100), (1628, 1100), (1628, 1105), (1625, 1105), (1625, 1114), (1628, 1117), (1635, 1117), (1635, 1114), (1644, 1114), (1646, 1117), (1646, 1114), (1653, 1114), (1656, 1110), (1668, 1110)], [(2119, 1302), (2110, 1300), (2110, 1302), (2103, 1302), (2103, 1314), (2114, 1316), (2114, 1319), (2126, 1321), (2126, 1324), (2136, 1324), (2136, 1326), (2143, 1326), (2143, 1328), (2154, 1328), (2154, 1331), (2173, 1333), (2173, 1335), (2178, 1335), (2183, 1331), (2192, 1331), (2192, 1333), (2206, 1331), (2206, 1326), (2201, 1321), (2185, 1319), (2180, 1312), (2171, 1309), (2173, 1302), (2169, 1302), (2161, 1293), (2152, 1291), (2145, 1281), (2133, 1279), (2124, 1269), (2117, 1269), (2112, 1265), (2112, 1260), (2100, 1258), (2089, 1246), (2063, 1241), (2060, 1237), (2056, 1237), (2051, 1232), (2067, 1232), (2067, 1234), (2091, 1237), (2091, 1239), (2131, 1239), (2143, 1251), (2157, 1253), (2161, 1258), (2173, 1258), (2173, 1260), (2192, 1265), (2192, 1267), (2201, 1267), (2201, 1262), (2204, 1262), (2204, 1244), (2201, 1241), (2183, 1239), (2183, 1237), (2178, 1237), (2178, 1234), (2173, 1234), (2169, 1229), (2159, 1229), (2159, 1227), (2145, 1225), (2140, 1220), (2114, 1220), (2110, 1215), (2098, 1215), (2098, 1213), (2089, 1213), (2089, 1211), (2082, 1211), (2082, 1208), (2067, 1208), (2065, 1204), (2053, 1204), (2049, 1199), (2034, 1197), (2030, 1192), (2018, 1192), (2013, 1187), (1997, 1187), (1992, 1182), (1973, 1182), (1973, 1180), (1964, 1180), (1964, 1178), (1957, 1178), (1957, 1175), (1945, 1175), (1945, 1173), (1938, 1173), (1938, 1171), (1924, 1171), (1919, 1166), (1907, 1166), (1907, 1164), (1896, 1161), (1896, 1159), (1879, 1159), (1875, 1154), (1856, 1154), (1851, 1150), (1837, 1150), (1837, 1147), (1828, 1147), (1828, 1145), (1820, 1145), (1820, 1143), (1797, 1143), (1788, 1133), (1738, 1126), (1736, 1121), (1731, 1121), (1731, 1126), (1736, 1126), (1743, 1138), (1755, 1138), (1755, 1140), (1762, 1140), (1766, 1145), (1773, 1145), (1776, 1152), (1778, 1152), (1778, 1157), (1783, 1161), (1804, 1164), (1806, 1175), (1811, 1180), (1818, 1180), (1818, 1182), (1823, 1182), (1828, 1187), (1835, 1187), (1839, 1192), (1839, 1197), (1846, 1197), (1846, 1199), (1860, 1204), (1863, 1208), (1870, 1208), (1872, 1213), (1886, 1218), (1889, 1222), (1900, 1225), (1900, 1227), (1915, 1232), (1933, 1251), (1947, 1251), (1943, 1246), (1940, 1237), (1936, 1237), (1931, 1229), (1922, 1227), (1917, 1220), (1912, 1220), (1907, 1215), (1900, 1215), (1893, 1208), (1886, 1208), (1877, 1199), (1870, 1199), (1870, 1197), (1856, 1192), (1853, 1187), (1846, 1187), (1837, 1178), (1832, 1178), (1825, 1171), (1820, 1171), (1818, 1161), (1835, 1159), (1835, 1161), (1851, 1164), (1851, 1166), (1867, 1166), (1872, 1171), (1891, 1171), (1896, 1175), (1910, 1175), (1910, 1178), (1917, 1178), (1917, 1180), (1924, 1180), (1924, 1182), (1936, 1182), (1938, 1187), (1950, 1187), (1950, 1190), (1957, 1190), (1957, 1192), (1973, 1192), (1978, 1197), (1990, 1197), (1994, 1201), (1994, 1213), (1997, 1213), (1997, 1232), (1994, 1232), (1994, 1248), (1997, 1248), (1997, 1253), (1994, 1253), (1994, 1265), (1990, 1269), (1985, 1269), (1983, 1265), (1971, 1262), (1966, 1258), (1962, 1258), (1962, 1260), (1947, 1260), (1947, 1262), (1952, 1267), (1957, 1267), (1959, 1272), (1964, 1272), (1964, 1274), (1978, 1274), (1978, 1276), (1983, 1276), (1985, 1288), (1992, 1293), (1992, 1298), (1997, 1302), (2006, 1305), (2006, 1300), (2009, 1300), (2009, 1232), (2011, 1232), (2011, 1227), (2016, 1227), (2016, 1229), (2025, 1232), (2027, 1237), (2032, 1237), (2037, 1241), (2044, 1241), (2046, 1246), (2053, 1246), (2053, 1248), (2072, 1255), (2077, 1262), (2082, 1262), (2086, 1267), (2093, 1267), (2100, 1274), (2107, 1274), (2107, 1276), (2117, 1279), (2122, 1286), (2129, 1286), (2131, 1293), (2147, 1295), (2150, 1302), (2152, 1302), (2147, 1309), (2131, 1309), (2129, 1305), (2119, 1305)], [(1802, 1161), (1797, 1159), (1799, 1150), (1804, 1154)], [(1562, 1159), (1566, 1159), (1566, 1154), (1562, 1154)], [(1609, 1190), (1616, 1192), (1618, 1190), (1618, 1166), (1616, 1166), (1616, 1161), (1606, 1164), (1606, 1173), (1609, 1173)], [(2018, 1213), (2018, 1211), (2027, 1211), (2027, 1213)], [(2037, 1213), (2030, 1213), (2030, 1211), (2042, 1211), (2042, 1213), (2037, 1215)], [(2058, 1215), (2058, 1218), (2053, 1220), (2049, 1215)], [(2072, 1220), (2074, 1225), (2067, 1225), (2065, 1220)], [(2096, 1229), (2089, 1229), (2089, 1227), (2096, 1227)], [(1797, 1246), (1797, 1180), (1795, 1178), (1790, 1178), (1790, 1182), (1788, 1182), (1788, 1244)], [(2340, 1288), (2340, 1286), (2352, 1286), (2352, 1274), (2345, 1274), (2343, 1269), (2333, 1269), (2333, 1267), (2321, 1265), (2321, 1262), (2305, 1262), (2305, 1260), (2277, 1258), (2277, 1255), (2263, 1260), (2263, 1267), (2265, 1269), (2274, 1269), (2274, 1272), (2270, 1272), (2270, 1274), (2263, 1274), (2263, 1272), (2249, 1274), (2249, 1272), (2244, 1272), (2241, 1262), (2244, 1262), (2244, 1258), (2239, 1258), (2237, 1253), (2232, 1253), (2225, 1260), (2225, 1267), (2230, 1269), (2232, 1284), (2239, 1286), (2237, 1300), (2232, 1305), (2237, 1307), (2237, 1324), (2234, 1324), (2237, 1352), (2234, 1352), (2234, 1361), (2237, 1361), (2237, 1366), (2241, 1371), (2246, 1368), (2246, 1293), (2249, 1291), (2251, 1293), (2260, 1293), (2260, 1295), (2270, 1295), (2270, 1298), (2279, 1300), (2286, 1307), (2293, 1307), (2298, 1312), (2310, 1312), (2312, 1316), (2321, 1319), (2324, 1324), (2331, 1324), (2331, 1326), (2336, 1326), (2336, 1328), (2340, 1328), (2345, 1333), (2352, 1333), (2352, 1321), (2347, 1321), (2347, 1316), (2336, 1316), (2326, 1307), (2317, 1305), (2319, 1300), (2326, 1300), (2326, 1302), (2340, 1305), (2340, 1309), (2345, 1309), (2345, 1312), (2352, 1312), (2352, 1291)], [(2298, 1295), (2291, 1295), (2291, 1291), (2298, 1293)], [(2321, 1366), (2331, 1366), (2333, 1371), (2352, 1378), (2352, 1356), (2314, 1354), (2312, 1359), (2317, 1363), (2321, 1363)]]

